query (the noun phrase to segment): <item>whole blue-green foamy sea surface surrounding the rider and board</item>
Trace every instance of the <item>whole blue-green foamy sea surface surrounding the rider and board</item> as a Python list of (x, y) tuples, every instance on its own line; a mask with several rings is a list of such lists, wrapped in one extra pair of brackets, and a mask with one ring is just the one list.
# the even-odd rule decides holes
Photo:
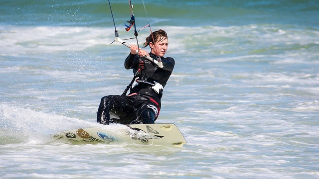
[[(110, 2), (120, 37), (134, 37), (128, 0)], [(1, 0), (1, 179), (319, 178), (318, 1), (144, 0), (147, 15), (132, 3), (138, 29), (169, 36), (176, 65), (156, 122), (187, 144), (54, 142), (100, 126), (101, 97), (133, 78), (129, 49), (110, 45), (108, 0)]]

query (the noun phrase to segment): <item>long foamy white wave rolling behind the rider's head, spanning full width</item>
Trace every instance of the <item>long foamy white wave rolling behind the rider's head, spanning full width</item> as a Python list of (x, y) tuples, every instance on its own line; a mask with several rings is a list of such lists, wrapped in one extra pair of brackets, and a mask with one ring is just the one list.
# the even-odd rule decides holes
[[(317, 63), (319, 30), (303, 26), (278, 24), (250, 24), (239, 26), (155, 26), (169, 36), (168, 54), (200, 56), (202, 62), (255, 60), (274, 63)], [(131, 38), (133, 33), (119, 29), (122, 39)], [(37, 34), (37, 35), (34, 35)], [(149, 30), (139, 34), (144, 42)], [(68, 26), (0, 26), (0, 55), (21, 56), (43, 54), (74, 54), (85, 57), (103, 58), (105, 53), (126, 55), (127, 49), (113, 43), (114, 28), (68, 27)], [(127, 41), (136, 44), (136, 40)], [(76, 53), (75, 53), (76, 52)], [(204, 56), (203, 56), (204, 54)], [(272, 57), (272, 58), (269, 58)], [(86, 57), (87, 58), (87, 57)], [(264, 59), (264, 60), (263, 60)]]

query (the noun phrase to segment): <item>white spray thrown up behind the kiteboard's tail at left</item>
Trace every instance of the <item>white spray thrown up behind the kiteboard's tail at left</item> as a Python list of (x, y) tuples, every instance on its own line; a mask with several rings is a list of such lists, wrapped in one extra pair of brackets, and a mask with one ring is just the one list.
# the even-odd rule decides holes
[(0, 103), (1, 136), (11, 136), (24, 142), (50, 141), (50, 134), (67, 129), (94, 126), (95, 123), (44, 113), (28, 108)]

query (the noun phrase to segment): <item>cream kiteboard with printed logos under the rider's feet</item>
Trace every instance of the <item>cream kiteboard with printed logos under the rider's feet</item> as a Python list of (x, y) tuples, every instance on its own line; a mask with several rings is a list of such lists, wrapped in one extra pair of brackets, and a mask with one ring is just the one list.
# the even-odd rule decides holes
[[(55, 140), (79, 143), (138, 141), (145, 144), (172, 145), (182, 147), (186, 140), (175, 124), (130, 124), (120, 131), (103, 127), (80, 128), (53, 134)], [(119, 127), (119, 126), (114, 126)]]

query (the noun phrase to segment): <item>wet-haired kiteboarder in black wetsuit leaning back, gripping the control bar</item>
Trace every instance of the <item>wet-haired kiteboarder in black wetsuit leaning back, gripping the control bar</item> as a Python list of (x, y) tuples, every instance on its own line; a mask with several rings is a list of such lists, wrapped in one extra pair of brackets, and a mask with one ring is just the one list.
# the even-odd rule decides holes
[[(102, 97), (97, 122), (101, 124), (151, 124), (155, 123), (160, 113), (163, 88), (168, 81), (175, 61), (164, 55), (168, 47), (168, 37), (164, 30), (158, 29), (146, 38), (144, 47), (151, 52), (130, 45), (130, 54), (125, 59), (124, 67), (133, 69), (134, 78), (122, 95)], [(153, 60), (149, 60), (151, 57)], [(155, 63), (156, 62), (156, 63)]]

